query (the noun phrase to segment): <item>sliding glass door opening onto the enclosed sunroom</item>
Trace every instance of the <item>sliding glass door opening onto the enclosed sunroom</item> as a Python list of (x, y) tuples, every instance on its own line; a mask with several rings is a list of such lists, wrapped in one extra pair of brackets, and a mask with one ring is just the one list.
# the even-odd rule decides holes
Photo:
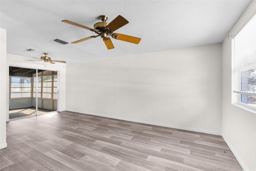
[(9, 67), (9, 119), (58, 110), (58, 72)]

